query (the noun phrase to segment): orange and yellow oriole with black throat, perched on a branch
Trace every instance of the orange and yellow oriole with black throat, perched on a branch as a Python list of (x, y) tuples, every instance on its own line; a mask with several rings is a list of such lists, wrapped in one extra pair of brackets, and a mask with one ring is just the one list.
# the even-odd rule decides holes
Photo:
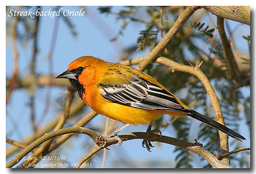
[[(190, 109), (156, 79), (130, 66), (83, 56), (72, 61), (58, 78), (69, 79), (78, 96), (92, 110), (124, 124), (107, 135), (116, 138), (117, 146), (122, 144), (117, 133), (129, 125), (148, 125), (146, 132), (162, 136), (159, 129), (151, 130), (153, 121), (162, 114), (190, 116), (236, 140), (246, 140), (228, 127)], [(144, 145), (148, 151), (154, 147), (148, 140), (142, 141)]]

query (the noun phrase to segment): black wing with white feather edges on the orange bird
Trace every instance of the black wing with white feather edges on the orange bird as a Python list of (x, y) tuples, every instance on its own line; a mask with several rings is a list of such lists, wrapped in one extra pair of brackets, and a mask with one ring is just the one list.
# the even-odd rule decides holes
[(143, 78), (132, 78), (129, 84), (99, 84), (104, 99), (147, 110), (169, 110), (186, 113), (175, 97), (163, 88)]

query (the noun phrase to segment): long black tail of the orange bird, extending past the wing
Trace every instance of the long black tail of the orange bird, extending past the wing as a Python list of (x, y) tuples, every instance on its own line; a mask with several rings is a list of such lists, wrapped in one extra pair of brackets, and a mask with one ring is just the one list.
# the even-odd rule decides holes
[(189, 110), (189, 111), (190, 111), (190, 114), (188, 114), (188, 116), (193, 117), (193, 118), (203, 122), (206, 125), (212, 126), (213, 128), (218, 129), (221, 132), (224, 132), (224, 133), (228, 134), (230, 137), (232, 137), (236, 140), (239, 140), (239, 141), (241, 141), (240, 139), (246, 140), (242, 135), (239, 135), (238, 133), (236, 133), (236, 132), (232, 131), (231, 129), (227, 128), (226, 126), (221, 125), (220, 123), (218, 123), (218, 122), (216, 122), (216, 121), (214, 121), (214, 120), (212, 120), (208, 117), (205, 117), (202, 114), (199, 114), (195, 110)]

